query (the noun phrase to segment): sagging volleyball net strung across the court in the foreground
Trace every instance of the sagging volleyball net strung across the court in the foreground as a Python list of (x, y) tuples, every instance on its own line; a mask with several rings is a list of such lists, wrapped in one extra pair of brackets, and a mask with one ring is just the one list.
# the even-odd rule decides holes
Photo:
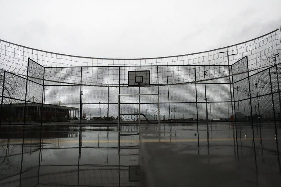
[[(160, 82), (162, 84), (182, 84), (229, 76), (231, 73), (228, 73), (228, 65), (232, 65), (246, 56), (249, 71), (280, 63), (280, 57), (274, 56), (281, 50), (280, 38), (279, 28), (252, 40), (224, 48), (179, 56), (141, 59), (107, 59), (64, 55), (0, 39), (0, 69), (27, 76), (28, 59), (31, 59), (36, 65), (33, 64), (30, 67), (28, 76), (54, 82), (112, 86), (120, 85), (121, 77), (121, 85), (126, 85), (128, 84), (126, 79), (129, 70), (150, 70), (152, 85), (159, 85)], [(120, 72), (120, 67), (122, 72)], [(43, 70), (45, 77), (42, 77), (42, 68), (45, 69)], [(233, 68), (234, 72), (242, 72), (239, 70), (241, 68), (243, 71), (245, 70), (245, 67), (238, 65)], [(204, 71), (206, 70), (209, 72), (205, 77)], [(196, 75), (193, 75), (195, 71), (199, 73), (197, 78)], [(165, 76), (170, 77), (166, 83), (164, 82), (166, 79), (162, 78)], [(160, 81), (157, 80), (159, 78)], [(119, 82), (116, 79), (119, 79)]]

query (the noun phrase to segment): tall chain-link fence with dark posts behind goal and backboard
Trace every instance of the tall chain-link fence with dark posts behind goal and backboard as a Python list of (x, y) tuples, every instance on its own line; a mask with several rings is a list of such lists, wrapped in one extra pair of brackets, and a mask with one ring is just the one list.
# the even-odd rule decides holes
[[(173, 81), (169, 80), (167, 74), (171, 67), (149, 68), (153, 71), (155, 69), (154, 73), (151, 72), (152, 79), (155, 79), (151, 81), (155, 82), (154, 86), (140, 89), (117, 88), (110, 87), (112, 82), (102, 82), (101, 84), (108, 84), (108, 87), (99, 87), (75, 85), (79, 81), (87, 81), (89, 77), (93, 78), (92, 74), (97, 73), (89, 71), (89, 67), (86, 70), (83, 70), (83, 67), (48, 68), (29, 59), (27, 78), (5, 71), (0, 72), (0, 124), (117, 124), (118, 95), (139, 93), (159, 94), (161, 122), (279, 120), (281, 117), (281, 66), (274, 58), (272, 67), (254, 74), (250, 72), (251, 75), (247, 73), (247, 56), (231, 66), (175, 66), (173, 68), (183, 71), (179, 77), (194, 77), (194, 83), (182, 85), (169, 85), (169, 82)], [(120, 73), (125, 69), (130, 70), (129, 67), (115, 67), (112, 71)], [(217, 71), (226, 77), (208, 80)], [(29, 78), (29, 74), (39, 79)], [(55, 81), (58, 82), (46, 81), (46, 76), (57, 76)], [(64, 79), (72, 80), (73, 84), (60, 83)], [(123, 80), (122, 83), (120, 80)], [(117, 82), (117, 85), (127, 85), (128, 82), (124, 80), (120, 78), (114, 82)], [(122, 113), (138, 113), (138, 100), (130, 97), (132, 96), (123, 98), (124, 102), (121, 101)], [(140, 113), (148, 120), (158, 119), (155, 106), (156, 99), (143, 99), (140, 101)], [(135, 120), (137, 115), (122, 116), (121, 119), (122, 122)]]

